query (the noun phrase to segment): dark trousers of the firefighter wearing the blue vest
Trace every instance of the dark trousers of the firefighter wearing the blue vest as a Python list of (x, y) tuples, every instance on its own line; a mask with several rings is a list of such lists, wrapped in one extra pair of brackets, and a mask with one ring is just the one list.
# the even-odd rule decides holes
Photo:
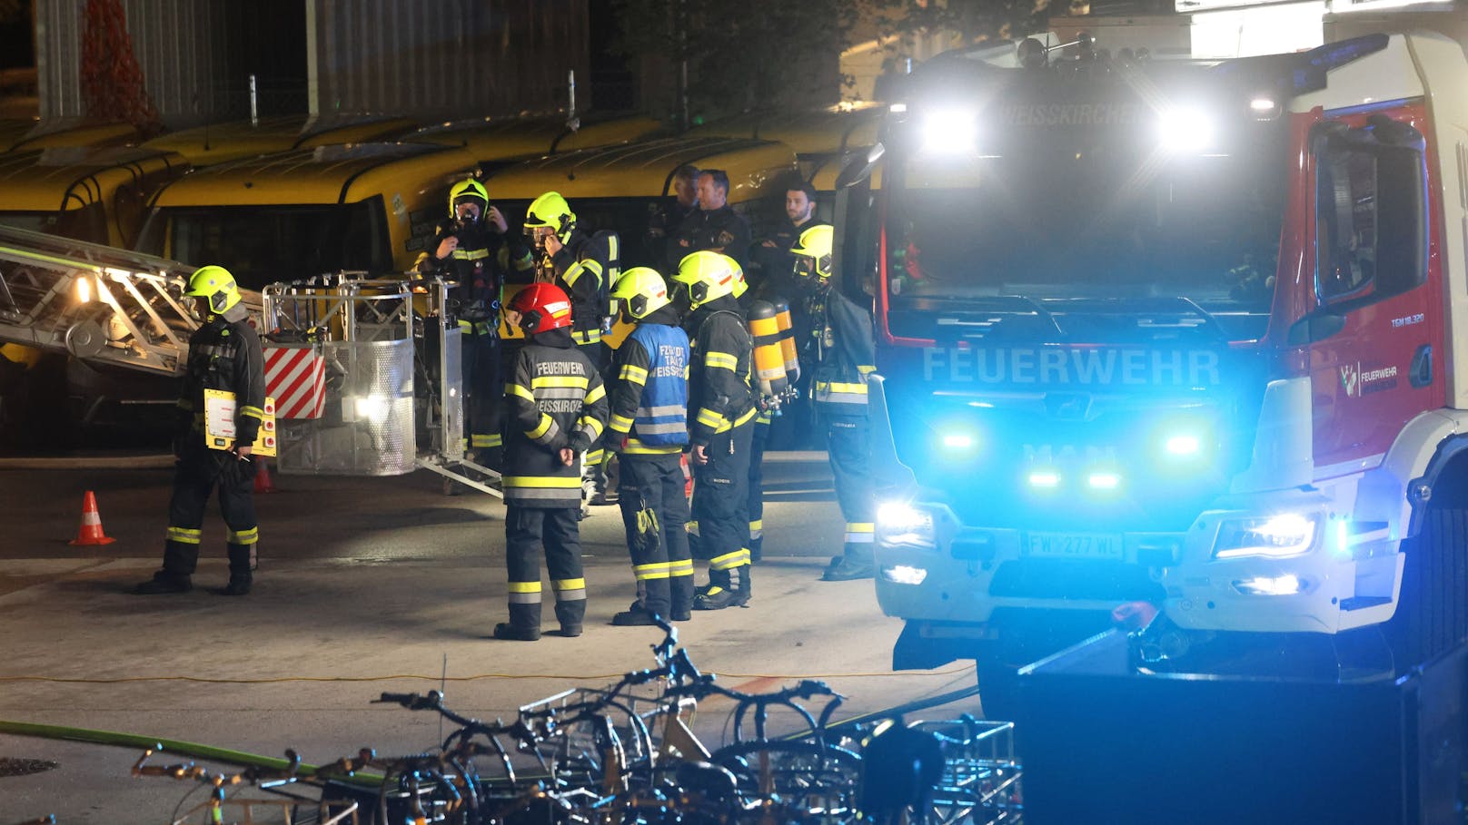
[[(688, 499), (683, 495), (680, 454), (621, 454), (621, 492), (618, 505), (627, 527), (627, 548), (637, 578), (637, 600), (649, 614), (662, 618), (693, 609), (693, 556), (688, 555)], [(642, 536), (646, 515), (656, 515), (656, 542)]]

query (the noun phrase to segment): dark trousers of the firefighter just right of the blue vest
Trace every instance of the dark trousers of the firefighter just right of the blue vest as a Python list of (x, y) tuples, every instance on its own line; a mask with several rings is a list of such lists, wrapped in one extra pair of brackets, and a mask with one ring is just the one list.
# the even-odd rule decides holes
[(699, 524), (699, 558), (709, 562), (709, 584), (730, 590), (731, 571), (749, 595), (749, 461), (755, 420), (716, 433), (709, 462), (694, 465), (693, 520)]

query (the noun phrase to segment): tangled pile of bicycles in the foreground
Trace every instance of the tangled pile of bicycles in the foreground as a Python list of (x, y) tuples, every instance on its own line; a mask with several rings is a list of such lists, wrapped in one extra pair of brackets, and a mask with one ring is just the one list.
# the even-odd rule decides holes
[[(1019, 760), (1009, 722), (969, 716), (915, 722), (869, 716), (832, 724), (841, 696), (803, 680), (743, 693), (700, 672), (662, 624), (656, 666), (605, 688), (575, 688), (483, 722), (437, 691), (383, 693), (377, 702), (440, 715), (439, 747), (329, 765), (294, 752), (272, 766), (217, 772), (194, 763), (134, 766), (208, 790), (173, 822), (286, 824), (784, 824), (1019, 822)], [(734, 703), (730, 741), (693, 734), (700, 703)], [(812, 712), (806, 705), (816, 705)], [(772, 713), (796, 725), (772, 735)], [(248, 796), (266, 791), (269, 797)], [(270, 812), (267, 815), (267, 810)]]

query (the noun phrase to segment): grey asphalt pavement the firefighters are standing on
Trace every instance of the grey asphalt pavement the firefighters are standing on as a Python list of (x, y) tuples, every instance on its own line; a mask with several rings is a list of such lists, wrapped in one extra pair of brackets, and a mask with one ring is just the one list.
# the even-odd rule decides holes
[[(894, 674), (901, 622), (881, 614), (872, 583), (818, 581), (844, 527), (824, 454), (771, 454), (765, 471), (755, 599), (681, 622), (693, 661), (746, 690), (826, 680), (847, 696), (837, 719), (973, 684), (972, 666), (962, 665)], [(452, 708), (496, 718), (653, 665), (659, 631), (609, 624), (634, 596), (615, 506), (583, 523), (584, 636), (496, 642), (489, 633), (505, 618), (498, 499), (443, 496), (437, 477), (421, 471), (277, 474), (280, 492), (257, 496), (261, 567), (250, 596), (208, 590), (228, 577), (216, 512), (206, 521), (195, 590), (134, 596), (128, 589), (159, 565), (170, 479), (167, 461), (148, 457), (68, 468), (0, 464), (0, 718), (269, 756), (294, 747), (307, 762), (330, 762), (363, 746), (405, 753), (439, 740), (436, 718), (370, 703), (380, 691), (442, 688)], [(87, 490), (112, 545), (66, 543)], [(548, 608), (548, 627), (550, 617)], [(718, 744), (731, 708), (700, 706), (696, 734)], [(976, 702), (951, 709), (964, 710), (981, 712)], [(794, 719), (774, 724), (793, 730)], [(63, 824), (166, 822), (191, 788), (129, 778), (137, 756), (0, 735), (0, 810), (7, 822), (46, 813)], [(26, 766), (47, 769), (6, 775)]]

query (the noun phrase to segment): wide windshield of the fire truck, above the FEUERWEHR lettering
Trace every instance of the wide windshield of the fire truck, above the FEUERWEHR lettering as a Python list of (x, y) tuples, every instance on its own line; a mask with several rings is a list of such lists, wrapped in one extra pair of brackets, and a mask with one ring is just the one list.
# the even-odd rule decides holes
[(934, 151), (913, 119), (884, 182), (891, 310), (992, 297), (1186, 298), (1236, 321), (1257, 317), (1230, 323), (1232, 336), (1262, 333), (1283, 131), (1236, 116), (1232, 132), (1185, 135), (1196, 142), (1179, 147), (1145, 106), (1105, 122), (1072, 119), (1067, 107), (1079, 104), (981, 115), (973, 145), (959, 151)]

